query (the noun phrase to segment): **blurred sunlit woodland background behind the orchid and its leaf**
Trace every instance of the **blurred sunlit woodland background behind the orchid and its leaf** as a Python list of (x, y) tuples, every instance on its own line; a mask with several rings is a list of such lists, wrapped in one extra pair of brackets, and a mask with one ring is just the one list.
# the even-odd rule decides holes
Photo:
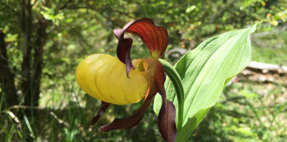
[[(0, 0), (0, 141), (164, 141), (152, 106), (132, 129), (98, 131), (141, 102), (111, 105), (90, 128), (100, 101), (75, 81), (81, 60), (116, 56), (113, 30), (143, 17), (167, 28), (162, 58), (172, 64), (212, 36), (262, 21), (251, 34), (256, 62), (188, 141), (287, 141), (287, 0)], [(139, 38), (126, 36), (132, 59), (149, 56)]]

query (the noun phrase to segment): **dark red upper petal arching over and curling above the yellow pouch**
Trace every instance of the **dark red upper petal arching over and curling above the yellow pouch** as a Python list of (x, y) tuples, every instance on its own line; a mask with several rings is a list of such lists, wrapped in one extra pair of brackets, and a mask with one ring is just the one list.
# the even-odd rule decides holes
[[(149, 18), (143, 18), (126, 24), (123, 29), (115, 29), (114, 34), (119, 39), (117, 47), (117, 56), (124, 64), (131, 64), (131, 59), (128, 51), (130, 51), (132, 39), (124, 39), (124, 33), (132, 33), (144, 42), (146, 47), (150, 50), (150, 54), (154, 58), (160, 58), (168, 44), (168, 32), (166, 28), (157, 26)], [(129, 71), (132, 66), (127, 66)]]

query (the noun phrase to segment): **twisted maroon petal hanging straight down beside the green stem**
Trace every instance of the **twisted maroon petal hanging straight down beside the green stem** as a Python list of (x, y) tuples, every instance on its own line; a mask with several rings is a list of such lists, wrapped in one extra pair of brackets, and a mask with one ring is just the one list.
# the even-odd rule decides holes
[(164, 89), (164, 82), (166, 76), (164, 74), (164, 67), (160, 62), (157, 62), (154, 68), (153, 77), (155, 81), (155, 87), (161, 95), (162, 105), (159, 111), (158, 128), (161, 136), (165, 141), (175, 141), (177, 130), (175, 124), (175, 106), (166, 99), (166, 91)]

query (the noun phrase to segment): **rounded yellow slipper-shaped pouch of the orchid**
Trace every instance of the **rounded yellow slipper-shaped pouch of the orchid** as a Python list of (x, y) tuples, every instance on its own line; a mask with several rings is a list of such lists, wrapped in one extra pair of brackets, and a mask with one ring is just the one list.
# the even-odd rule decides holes
[(111, 104), (139, 102), (148, 89), (149, 80), (144, 72), (131, 70), (118, 58), (106, 54), (90, 55), (76, 69), (79, 86), (90, 96)]

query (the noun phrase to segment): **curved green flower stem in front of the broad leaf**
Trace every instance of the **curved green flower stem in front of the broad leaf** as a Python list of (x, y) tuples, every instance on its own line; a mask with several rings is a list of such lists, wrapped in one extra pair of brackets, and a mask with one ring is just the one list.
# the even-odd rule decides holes
[(169, 77), (172, 82), (178, 101), (178, 116), (177, 116), (177, 131), (182, 128), (183, 122), (183, 108), (184, 108), (184, 89), (181, 84), (181, 79), (177, 71), (172, 67), (172, 65), (166, 60), (159, 59), (161, 64), (164, 66), (164, 72)]

